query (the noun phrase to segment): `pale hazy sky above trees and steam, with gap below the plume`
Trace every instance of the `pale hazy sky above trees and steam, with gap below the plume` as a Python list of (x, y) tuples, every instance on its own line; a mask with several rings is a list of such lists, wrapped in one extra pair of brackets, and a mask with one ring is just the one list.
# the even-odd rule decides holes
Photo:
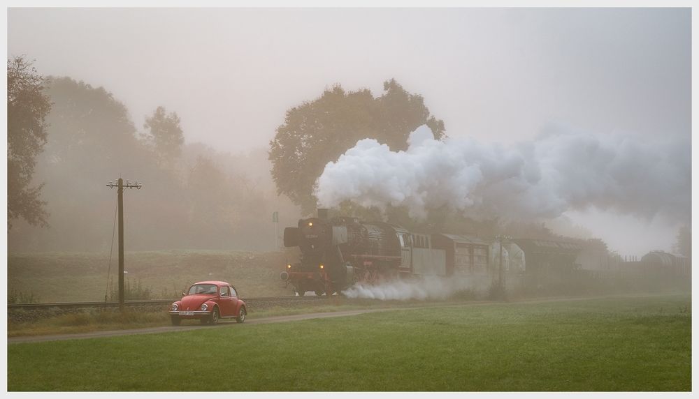
[[(454, 137), (530, 140), (549, 123), (691, 135), (689, 8), (12, 8), (20, 54), (104, 86), (139, 129), (164, 105), (187, 142), (234, 152), (266, 146), (289, 107), (331, 84), (380, 96), (391, 77)], [(622, 252), (670, 249), (676, 226), (655, 220), (632, 243), (608, 232), (649, 226), (623, 219), (591, 229)]]

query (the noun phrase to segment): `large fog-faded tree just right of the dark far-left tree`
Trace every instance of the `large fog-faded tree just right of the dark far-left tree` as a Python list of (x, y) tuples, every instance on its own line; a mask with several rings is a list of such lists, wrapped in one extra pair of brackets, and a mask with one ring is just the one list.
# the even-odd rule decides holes
[[(114, 209), (116, 195), (105, 184), (120, 175), (154, 181), (144, 171), (157, 168), (140, 148), (127, 108), (106, 89), (69, 77), (47, 77), (45, 92), (52, 101), (46, 116), (50, 140), (37, 157), (35, 179), (45, 181), (41, 193), (48, 199), (51, 228), (15, 223), (8, 246), (93, 250), (102, 245), (101, 233), (111, 231), (111, 218), (104, 215), (111, 214), (105, 209)], [(146, 169), (149, 162), (152, 166)], [(136, 196), (127, 195), (129, 211), (131, 197)]]

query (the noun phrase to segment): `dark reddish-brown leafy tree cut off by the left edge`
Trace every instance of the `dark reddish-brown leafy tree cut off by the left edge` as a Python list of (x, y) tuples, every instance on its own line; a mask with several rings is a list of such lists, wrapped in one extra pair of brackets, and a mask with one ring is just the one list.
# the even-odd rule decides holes
[(43, 77), (24, 57), (7, 61), (7, 229), (24, 218), (48, 226), (43, 185), (31, 186), (38, 156), (47, 141), (45, 117), (51, 109)]

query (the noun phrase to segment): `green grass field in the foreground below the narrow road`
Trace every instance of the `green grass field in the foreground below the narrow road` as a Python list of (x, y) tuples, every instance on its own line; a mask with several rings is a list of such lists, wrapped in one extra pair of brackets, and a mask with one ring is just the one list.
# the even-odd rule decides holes
[(13, 344), (8, 390), (689, 391), (691, 297), (436, 306)]

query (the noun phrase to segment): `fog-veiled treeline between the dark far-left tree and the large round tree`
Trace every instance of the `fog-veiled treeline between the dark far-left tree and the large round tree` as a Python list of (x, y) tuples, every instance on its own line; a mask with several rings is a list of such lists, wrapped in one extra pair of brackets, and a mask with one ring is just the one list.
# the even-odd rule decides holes
[(33, 183), (48, 226), (13, 220), (10, 251), (110, 250), (117, 193), (106, 184), (119, 177), (143, 183), (124, 193), (127, 250), (272, 250), (272, 212), (282, 228), (296, 223), (298, 207), (276, 195), (265, 149), (185, 144), (179, 116), (163, 107), (140, 128), (107, 89), (70, 77), (47, 77), (43, 90), (51, 107)]

